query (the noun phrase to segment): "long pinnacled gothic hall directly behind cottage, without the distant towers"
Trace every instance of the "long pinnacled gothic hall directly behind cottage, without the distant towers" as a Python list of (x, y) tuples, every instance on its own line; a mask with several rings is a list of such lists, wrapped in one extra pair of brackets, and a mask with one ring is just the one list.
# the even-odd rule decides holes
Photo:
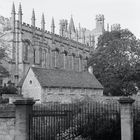
[(8, 70), (14, 83), (18, 83), (32, 65), (75, 71), (85, 69), (91, 46), (55, 34), (54, 25), (51, 28), (51, 32), (45, 30), (44, 15), (42, 15), (41, 28), (36, 27), (34, 11), (31, 25), (24, 23), (21, 5), (16, 20), (13, 4), (11, 30), (5, 32), (1, 39), (8, 40), (11, 60)]

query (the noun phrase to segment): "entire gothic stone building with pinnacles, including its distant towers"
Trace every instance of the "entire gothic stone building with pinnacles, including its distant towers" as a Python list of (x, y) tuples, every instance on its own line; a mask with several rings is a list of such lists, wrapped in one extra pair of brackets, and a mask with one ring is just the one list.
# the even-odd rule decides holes
[(47, 31), (44, 14), (42, 14), (40, 28), (36, 27), (34, 10), (31, 24), (23, 22), (22, 17), (21, 4), (18, 12), (15, 11), (13, 4), (11, 18), (9, 20), (5, 18), (6, 24), (0, 33), (0, 45), (8, 48), (8, 58), (2, 61), (2, 65), (9, 71), (8, 79), (16, 85), (31, 66), (85, 71), (87, 60), (97, 46), (98, 37), (105, 31), (103, 15), (96, 16), (96, 27), (91, 31), (82, 28), (80, 24), (76, 28), (72, 16), (69, 22), (62, 19), (59, 35), (55, 33), (54, 18), (52, 18), (51, 30)]

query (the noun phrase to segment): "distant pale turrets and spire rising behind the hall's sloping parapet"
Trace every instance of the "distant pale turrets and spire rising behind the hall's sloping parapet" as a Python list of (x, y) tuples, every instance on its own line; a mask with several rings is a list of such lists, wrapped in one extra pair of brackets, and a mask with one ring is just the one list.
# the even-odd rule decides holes
[(72, 16), (69, 23), (66, 19), (60, 20), (60, 35), (86, 44), (90, 46), (91, 50), (94, 50), (97, 47), (99, 36), (105, 31), (104, 15), (96, 15), (95, 21), (95, 29), (88, 30), (85, 27), (81, 27), (80, 24), (79, 27), (76, 28)]

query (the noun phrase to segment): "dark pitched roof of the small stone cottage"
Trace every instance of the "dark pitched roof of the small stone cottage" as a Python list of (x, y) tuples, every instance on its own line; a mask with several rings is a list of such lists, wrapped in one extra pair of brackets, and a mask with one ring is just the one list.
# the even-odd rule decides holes
[(42, 87), (103, 89), (95, 76), (85, 71), (75, 72), (36, 67), (31, 69)]

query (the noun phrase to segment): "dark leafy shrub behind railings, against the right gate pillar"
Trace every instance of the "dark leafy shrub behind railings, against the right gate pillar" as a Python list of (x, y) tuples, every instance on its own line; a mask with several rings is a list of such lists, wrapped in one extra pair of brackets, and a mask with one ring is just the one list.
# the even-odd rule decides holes
[[(120, 117), (113, 104), (90, 102), (76, 115), (76, 135), (86, 140), (120, 140)], [(116, 104), (117, 105), (117, 104)]]

